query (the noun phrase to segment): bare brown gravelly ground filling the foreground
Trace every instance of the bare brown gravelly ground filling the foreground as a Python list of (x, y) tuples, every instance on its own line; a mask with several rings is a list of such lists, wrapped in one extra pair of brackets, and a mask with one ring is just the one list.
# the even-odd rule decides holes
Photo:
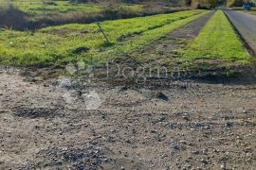
[[(78, 91), (20, 73), (0, 74), (1, 169), (256, 166), (253, 81), (151, 81), (155, 90), (94, 82)], [(76, 93), (98, 93), (100, 108), (87, 110)]]

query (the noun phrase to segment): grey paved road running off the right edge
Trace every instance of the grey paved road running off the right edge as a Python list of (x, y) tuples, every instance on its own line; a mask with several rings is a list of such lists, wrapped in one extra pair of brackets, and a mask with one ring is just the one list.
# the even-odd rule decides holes
[(256, 16), (241, 11), (226, 10), (229, 20), (244, 37), (250, 48), (256, 53)]

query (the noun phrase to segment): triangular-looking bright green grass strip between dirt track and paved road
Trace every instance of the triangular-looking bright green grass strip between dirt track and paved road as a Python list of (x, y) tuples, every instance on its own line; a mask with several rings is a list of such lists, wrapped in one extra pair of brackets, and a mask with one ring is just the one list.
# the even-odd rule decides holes
[(183, 56), (186, 59), (223, 59), (247, 63), (249, 53), (222, 10), (210, 18)]

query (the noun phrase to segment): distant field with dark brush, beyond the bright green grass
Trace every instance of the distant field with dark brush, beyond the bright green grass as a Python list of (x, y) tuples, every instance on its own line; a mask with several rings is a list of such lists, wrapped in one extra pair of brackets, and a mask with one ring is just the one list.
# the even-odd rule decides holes
[[(64, 24), (90, 24), (95, 21), (134, 18), (160, 13), (171, 13), (188, 7), (154, 6), (134, 3), (84, 3), (44, 0), (0, 0), (0, 26), (16, 30), (33, 30)], [(8, 18), (5, 16), (9, 16)], [(18, 18), (18, 19), (17, 19)]]

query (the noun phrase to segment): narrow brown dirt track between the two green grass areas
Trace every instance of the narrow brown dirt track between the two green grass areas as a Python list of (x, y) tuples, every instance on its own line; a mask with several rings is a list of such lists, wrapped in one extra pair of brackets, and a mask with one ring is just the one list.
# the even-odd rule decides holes
[[(167, 63), (173, 63), (175, 65), (179, 58), (176, 50), (184, 48), (188, 42), (197, 37), (214, 13), (214, 11), (211, 11), (188, 25), (175, 29), (169, 35), (162, 37), (152, 45), (147, 46), (141, 51), (143, 54), (141, 55), (142, 58), (139, 60), (143, 61), (146, 59), (150, 64), (156, 63), (164, 66), (167, 66)], [(148, 58), (149, 56), (151, 56), (150, 59)], [(166, 59), (168, 59), (168, 62)], [(172, 67), (174, 65), (168, 66)]]

